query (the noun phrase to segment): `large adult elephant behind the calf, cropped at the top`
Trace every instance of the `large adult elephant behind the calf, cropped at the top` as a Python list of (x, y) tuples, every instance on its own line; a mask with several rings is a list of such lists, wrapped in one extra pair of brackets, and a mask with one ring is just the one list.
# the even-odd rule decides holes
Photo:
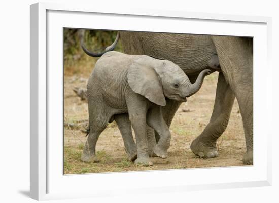
[[(192, 142), (191, 150), (200, 158), (218, 156), (216, 142), (228, 125), (236, 97), (247, 146), (247, 151), (243, 156), (243, 164), (253, 164), (252, 38), (119, 31), (114, 44), (106, 51), (114, 49), (119, 37), (121, 37), (125, 53), (145, 54), (170, 60), (182, 68), (192, 83), (202, 70), (206, 68), (218, 70), (216, 98), (210, 122)], [(106, 52), (93, 53), (87, 50), (83, 43), (82, 47), (87, 54), (95, 57)], [(163, 108), (163, 115), (168, 126), (170, 126), (180, 104), (177, 101), (167, 100), (167, 104)], [(125, 129), (124, 123), (119, 125)], [(150, 128), (148, 129), (148, 137), (151, 148), (156, 141), (154, 131)], [(156, 140), (158, 141), (158, 137)]]

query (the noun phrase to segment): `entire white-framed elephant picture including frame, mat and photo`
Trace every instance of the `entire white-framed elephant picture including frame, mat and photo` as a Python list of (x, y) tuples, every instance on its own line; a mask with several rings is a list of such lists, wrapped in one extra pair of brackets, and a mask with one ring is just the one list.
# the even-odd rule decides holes
[(30, 197), (271, 185), (270, 30), (268, 17), (31, 5)]

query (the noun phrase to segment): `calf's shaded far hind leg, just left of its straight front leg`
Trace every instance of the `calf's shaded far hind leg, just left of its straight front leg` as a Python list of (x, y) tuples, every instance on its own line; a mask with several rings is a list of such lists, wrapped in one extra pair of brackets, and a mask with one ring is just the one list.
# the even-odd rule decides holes
[(136, 145), (133, 139), (131, 122), (128, 113), (114, 115), (114, 119), (123, 138), (125, 150), (130, 161), (136, 159)]

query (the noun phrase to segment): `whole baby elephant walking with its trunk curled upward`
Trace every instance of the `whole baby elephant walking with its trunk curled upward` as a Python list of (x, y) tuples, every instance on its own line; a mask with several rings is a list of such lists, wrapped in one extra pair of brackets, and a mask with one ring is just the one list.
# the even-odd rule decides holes
[[(96, 161), (98, 137), (114, 119), (120, 129), (124, 122), (134, 129), (137, 149), (135, 163), (152, 165), (148, 154), (147, 125), (160, 136), (152, 151), (158, 157), (166, 158), (170, 132), (161, 109), (166, 105), (165, 97), (185, 102), (186, 97), (200, 89), (204, 76), (210, 73), (208, 69), (202, 71), (196, 82), (191, 84), (182, 69), (170, 61), (114, 51), (104, 54), (97, 61), (87, 83), (89, 136), (82, 160)], [(128, 132), (121, 133), (128, 135), (125, 142), (135, 147), (131, 126)], [(134, 150), (130, 146), (125, 147), (127, 151)]]

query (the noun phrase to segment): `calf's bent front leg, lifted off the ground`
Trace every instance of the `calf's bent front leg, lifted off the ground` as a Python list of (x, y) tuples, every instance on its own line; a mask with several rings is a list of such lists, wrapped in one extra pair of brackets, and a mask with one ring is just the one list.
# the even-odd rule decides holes
[(170, 131), (165, 123), (162, 114), (162, 108), (160, 106), (154, 106), (147, 113), (147, 124), (154, 128), (154, 130), (159, 134), (160, 140), (153, 147), (153, 152), (161, 158), (167, 157), (167, 149), (170, 145)]

